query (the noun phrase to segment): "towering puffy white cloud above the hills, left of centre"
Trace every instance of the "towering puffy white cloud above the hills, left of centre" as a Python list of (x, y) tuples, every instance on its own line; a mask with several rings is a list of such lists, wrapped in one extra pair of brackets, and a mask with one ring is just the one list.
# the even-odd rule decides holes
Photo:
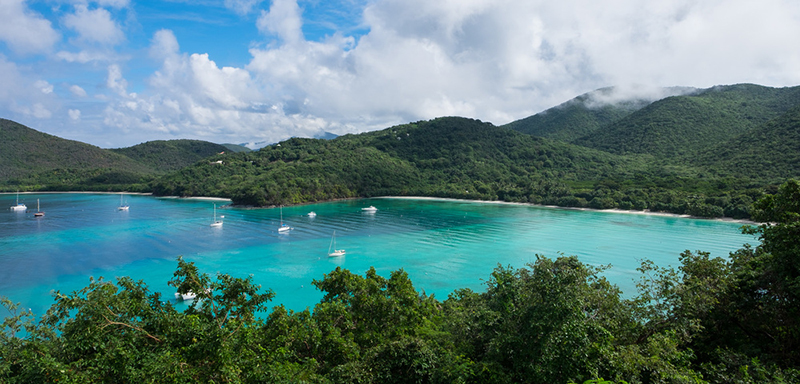
[[(249, 71), (220, 67), (207, 54), (179, 51), (172, 31), (155, 33), (150, 55), (161, 67), (149, 80), (148, 95), (128, 94), (109, 104), (104, 124), (124, 132), (240, 142), (243, 137), (281, 137), (295, 118), (276, 113), (263, 103)], [(124, 94), (119, 67), (109, 67), (107, 85)]]

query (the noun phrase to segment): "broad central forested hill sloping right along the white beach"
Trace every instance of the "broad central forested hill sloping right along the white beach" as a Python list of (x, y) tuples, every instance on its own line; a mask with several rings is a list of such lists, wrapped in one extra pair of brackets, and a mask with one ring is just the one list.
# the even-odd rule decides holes
[(763, 191), (693, 167), (454, 117), (330, 141), (290, 139), (210, 160), (159, 179), (154, 193), (254, 206), (414, 195), (742, 218)]

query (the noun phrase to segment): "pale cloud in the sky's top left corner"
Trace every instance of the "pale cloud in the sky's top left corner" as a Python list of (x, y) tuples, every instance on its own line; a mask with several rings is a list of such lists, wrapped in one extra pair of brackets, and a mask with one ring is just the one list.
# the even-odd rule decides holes
[(48, 52), (60, 39), (50, 21), (32, 12), (24, 0), (0, 1), (0, 40), (19, 53)]

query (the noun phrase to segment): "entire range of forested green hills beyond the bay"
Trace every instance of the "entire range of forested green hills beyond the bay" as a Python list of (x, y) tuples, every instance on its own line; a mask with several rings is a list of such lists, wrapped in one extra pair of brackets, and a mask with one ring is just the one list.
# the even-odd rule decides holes
[(104, 150), (4, 120), (0, 188), (254, 206), (416, 195), (744, 218), (765, 188), (800, 174), (800, 87), (720, 86), (647, 103), (604, 89), (504, 127), (444, 117), (247, 152), (195, 140)]

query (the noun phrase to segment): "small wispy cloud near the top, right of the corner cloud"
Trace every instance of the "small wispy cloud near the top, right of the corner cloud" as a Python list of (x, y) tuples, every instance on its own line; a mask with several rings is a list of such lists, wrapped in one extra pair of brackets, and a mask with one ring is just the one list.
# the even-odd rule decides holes
[(114, 45), (125, 39), (111, 13), (103, 8), (90, 10), (85, 4), (76, 4), (75, 13), (64, 17), (64, 25), (78, 32), (80, 40), (90, 43)]

